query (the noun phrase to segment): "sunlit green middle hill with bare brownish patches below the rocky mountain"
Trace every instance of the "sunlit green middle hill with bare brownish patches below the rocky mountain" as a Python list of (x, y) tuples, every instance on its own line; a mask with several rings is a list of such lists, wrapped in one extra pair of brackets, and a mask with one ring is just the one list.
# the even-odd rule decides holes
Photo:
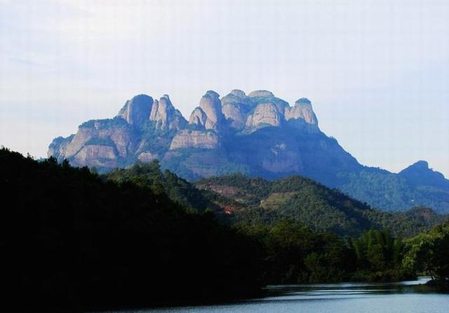
[(390, 229), (395, 236), (410, 237), (447, 219), (424, 207), (405, 212), (380, 211), (337, 189), (297, 175), (270, 182), (233, 174), (199, 180), (196, 185), (245, 206), (233, 216), (233, 221), (239, 224), (274, 225), (288, 218), (316, 232), (358, 236), (373, 227)]

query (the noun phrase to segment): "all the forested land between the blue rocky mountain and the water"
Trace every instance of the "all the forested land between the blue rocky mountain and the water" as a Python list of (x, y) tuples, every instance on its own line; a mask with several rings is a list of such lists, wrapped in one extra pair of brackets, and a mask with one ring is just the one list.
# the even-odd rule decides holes
[[(198, 185), (209, 190), (157, 162), (100, 176), (0, 149), (2, 304), (173, 305), (253, 295), (265, 284), (448, 279), (448, 223), (411, 239), (398, 236), (407, 227), (396, 225), (395, 236), (381, 229), (427, 229), (441, 218), (427, 208), (381, 213), (298, 176)], [(313, 214), (325, 222), (311, 223)]]

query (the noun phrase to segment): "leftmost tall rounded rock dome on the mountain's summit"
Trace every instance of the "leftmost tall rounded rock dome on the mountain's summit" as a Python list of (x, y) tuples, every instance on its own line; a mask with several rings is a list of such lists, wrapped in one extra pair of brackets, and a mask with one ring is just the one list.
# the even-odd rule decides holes
[(118, 115), (130, 125), (142, 126), (149, 119), (152, 105), (153, 98), (149, 95), (135, 95), (131, 100), (125, 102)]

